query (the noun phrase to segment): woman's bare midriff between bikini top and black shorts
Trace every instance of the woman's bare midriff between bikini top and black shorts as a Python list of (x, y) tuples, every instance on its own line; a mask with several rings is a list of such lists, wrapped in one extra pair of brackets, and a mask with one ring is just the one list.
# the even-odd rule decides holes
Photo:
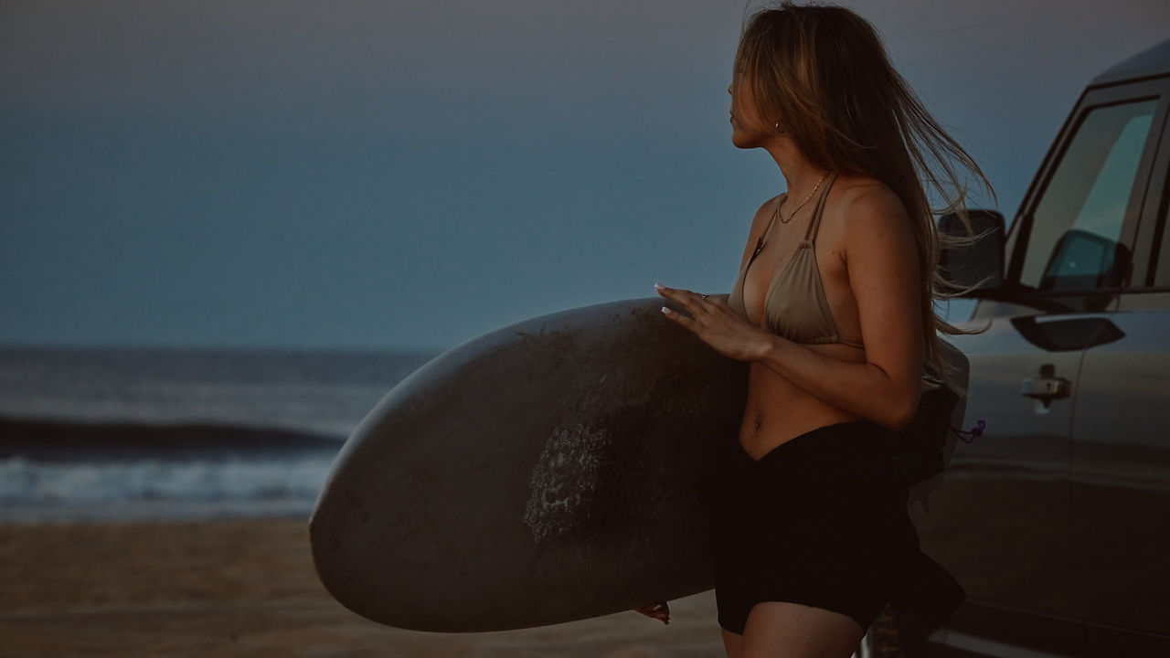
[[(866, 359), (863, 349), (844, 343), (804, 347), (841, 361), (862, 363)], [(758, 460), (805, 432), (851, 420), (861, 420), (861, 417), (806, 393), (765, 365), (752, 363), (749, 366), (748, 403), (739, 424), (739, 445), (748, 457)]]

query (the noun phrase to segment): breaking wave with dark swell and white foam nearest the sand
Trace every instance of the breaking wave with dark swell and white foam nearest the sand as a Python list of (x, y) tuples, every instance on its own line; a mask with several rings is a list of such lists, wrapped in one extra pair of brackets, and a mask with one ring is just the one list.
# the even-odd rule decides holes
[(338, 437), (0, 418), (0, 521), (308, 514)]

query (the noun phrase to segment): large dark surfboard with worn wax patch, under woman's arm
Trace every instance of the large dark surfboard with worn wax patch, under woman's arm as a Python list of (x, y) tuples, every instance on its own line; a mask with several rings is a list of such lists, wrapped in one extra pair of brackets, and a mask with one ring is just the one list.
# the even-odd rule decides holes
[(310, 520), (330, 594), (387, 625), (464, 632), (714, 587), (711, 466), (737, 440), (746, 365), (662, 304), (519, 322), (394, 386), (343, 446)]

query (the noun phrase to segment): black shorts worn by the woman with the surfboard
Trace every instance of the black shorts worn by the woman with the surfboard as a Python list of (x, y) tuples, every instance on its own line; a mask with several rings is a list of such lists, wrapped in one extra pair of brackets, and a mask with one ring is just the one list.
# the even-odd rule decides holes
[(801, 434), (758, 461), (727, 447), (715, 520), (722, 628), (742, 635), (753, 605), (784, 601), (848, 615), (865, 630), (922, 571), (929, 558), (894, 480), (889, 438), (856, 421)]

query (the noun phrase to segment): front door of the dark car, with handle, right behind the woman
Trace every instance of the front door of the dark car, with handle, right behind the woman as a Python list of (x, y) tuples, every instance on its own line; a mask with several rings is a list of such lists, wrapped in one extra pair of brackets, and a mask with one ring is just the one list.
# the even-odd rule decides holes
[(1133, 190), (1151, 166), (1159, 103), (1143, 85), (1086, 92), (1013, 222), (1003, 289), (966, 324), (984, 330), (952, 340), (970, 359), (964, 424), (983, 419), (986, 430), (957, 446), (915, 514), (923, 549), (969, 597), (931, 636), (932, 654), (1083, 650), (1074, 402), (1082, 358), (1116, 336), (1112, 317), (1134, 262)]

